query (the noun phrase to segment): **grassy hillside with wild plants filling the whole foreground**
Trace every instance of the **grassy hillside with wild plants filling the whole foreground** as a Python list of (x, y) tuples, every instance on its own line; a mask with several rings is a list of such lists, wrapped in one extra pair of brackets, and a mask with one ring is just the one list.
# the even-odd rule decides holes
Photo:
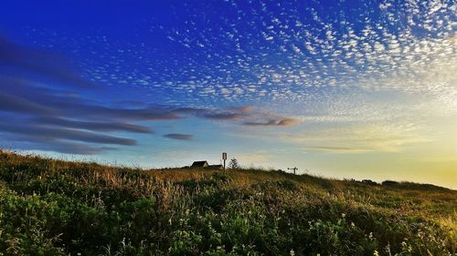
[(457, 191), (0, 153), (0, 255), (456, 255)]

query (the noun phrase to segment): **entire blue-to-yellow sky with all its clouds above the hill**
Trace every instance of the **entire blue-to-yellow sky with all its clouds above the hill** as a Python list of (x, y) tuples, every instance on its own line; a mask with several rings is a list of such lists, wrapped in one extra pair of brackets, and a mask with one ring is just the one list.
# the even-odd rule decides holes
[(0, 148), (457, 189), (454, 1), (2, 1)]

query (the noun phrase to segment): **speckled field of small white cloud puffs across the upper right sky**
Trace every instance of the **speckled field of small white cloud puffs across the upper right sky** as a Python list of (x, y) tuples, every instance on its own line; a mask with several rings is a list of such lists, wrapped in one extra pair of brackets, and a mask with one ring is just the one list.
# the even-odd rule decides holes
[[(430, 107), (441, 105), (455, 113), (455, 5), (442, 2), (373, 2), (350, 11), (335, 6), (320, 12), (325, 6), (319, 1), (306, 6), (289, 1), (282, 6), (265, 3), (270, 11), (260, 15), (250, 15), (259, 11), (255, 6), (232, 5), (228, 8), (243, 15), (243, 21), (207, 17), (207, 22), (220, 25), (218, 31), (192, 22), (180, 28), (155, 26), (166, 42), (186, 46), (188, 52), (177, 51), (160, 62), (166, 72), (157, 68), (153, 77), (160, 78), (151, 83), (169, 82), (173, 86), (167, 89), (192, 92), (205, 102), (271, 99), (270, 106), (290, 104), (295, 111), (298, 104), (330, 101), (335, 95), (393, 89), (439, 97)], [(302, 7), (304, 13), (297, 15)], [(265, 38), (274, 40), (264, 44)]]

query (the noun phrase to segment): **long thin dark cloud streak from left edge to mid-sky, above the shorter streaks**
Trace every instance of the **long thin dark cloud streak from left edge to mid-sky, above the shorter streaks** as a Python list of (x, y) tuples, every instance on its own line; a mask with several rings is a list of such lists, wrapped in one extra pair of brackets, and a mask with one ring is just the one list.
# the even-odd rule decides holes
[[(153, 121), (174, 120), (194, 116), (197, 118), (236, 120), (252, 118), (252, 107), (248, 108), (176, 108), (154, 105), (145, 108), (111, 108), (92, 102), (84, 97), (73, 97), (61, 92), (39, 87), (34, 81), (11, 79), (0, 76), (5, 92), (0, 94), (0, 110), (20, 112), (27, 115), (55, 118), (62, 115), (101, 120)], [(251, 113), (252, 112), (252, 113)]]

